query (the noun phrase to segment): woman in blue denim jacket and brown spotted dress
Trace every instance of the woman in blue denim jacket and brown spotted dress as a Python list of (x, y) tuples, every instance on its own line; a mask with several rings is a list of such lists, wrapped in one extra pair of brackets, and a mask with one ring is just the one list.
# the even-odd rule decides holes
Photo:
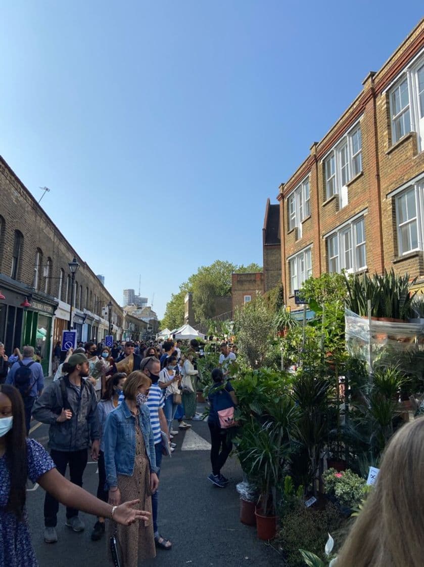
[[(155, 443), (150, 414), (145, 401), (151, 380), (139, 370), (132, 372), (123, 386), (125, 400), (109, 413), (105, 427), (106, 486), (109, 503), (138, 498), (140, 509), (152, 510), (152, 494), (157, 490)], [(129, 498), (129, 495), (132, 498)], [(125, 530), (109, 523), (108, 535), (117, 532), (123, 565), (137, 567), (138, 561), (156, 556), (153, 523), (139, 522)], [(109, 537), (106, 539), (109, 541)]]

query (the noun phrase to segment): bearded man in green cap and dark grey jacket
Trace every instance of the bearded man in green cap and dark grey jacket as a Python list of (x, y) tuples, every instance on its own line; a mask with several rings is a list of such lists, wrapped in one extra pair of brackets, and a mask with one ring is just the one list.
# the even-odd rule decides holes
[[(96, 392), (87, 380), (89, 363), (85, 354), (72, 354), (63, 364), (67, 374), (52, 382), (44, 390), (33, 407), (33, 417), (49, 424), (50, 455), (56, 468), (65, 476), (69, 465), (70, 479), (83, 485), (83, 473), (87, 466), (88, 452), (97, 460), (100, 429), (97, 417)], [(44, 500), (44, 541), (57, 541), (55, 527), (59, 502), (46, 493)], [(84, 530), (78, 510), (66, 508), (66, 526), (76, 532)]]

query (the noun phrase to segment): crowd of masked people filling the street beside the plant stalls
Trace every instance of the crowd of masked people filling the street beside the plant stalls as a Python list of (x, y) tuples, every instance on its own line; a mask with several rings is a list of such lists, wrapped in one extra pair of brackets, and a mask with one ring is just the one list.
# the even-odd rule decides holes
[[(33, 347), (24, 346), (22, 356), (18, 351), (18, 359), (11, 360), (0, 343), (0, 517), (5, 519), (0, 523), (3, 540), (15, 534), (12, 539), (18, 538), (20, 544), (18, 548), (16, 540), (0, 551), (5, 565), (23, 564), (23, 553), (25, 565), (37, 564), (25, 521), (22, 487), (26, 477), (46, 490), (44, 541), (48, 544), (58, 540), (62, 502), (66, 526), (75, 532), (85, 528), (79, 510), (97, 516), (92, 540), (100, 540), (105, 533), (108, 542), (112, 536), (117, 538), (126, 567), (155, 557), (156, 548), (172, 549), (172, 542), (159, 531), (162, 456), (175, 450), (172, 439), (179, 430), (191, 428), (187, 421), (200, 419), (196, 414), (198, 341), (186, 345), (185, 353), (182, 349), (182, 341), (171, 340), (151, 345), (126, 341), (112, 349), (87, 342), (68, 351), (63, 362), (62, 355), (54, 353), (54, 379), (44, 387)], [(226, 442), (225, 426), (221, 429), (219, 413), (224, 398), (229, 400), (224, 406), (232, 407), (237, 399), (230, 383), (224, 384), (235, 355), (226, 344), (221, 351), (209, 393), (212, 473), (208, 479), (225, 488), (228, 480), (221, 468), (231, 445)], [(34, 439), (25, 439), (32, 417), (49, 425), (50, 454)], [(18, 441), (19, 463), (11, 454)], [(87, 498), (82, 505), (85, 491), (80, 487), (88, 455), (98, 464), (97, 498)], [(21, 470), (15, 479), (18, 466)], [(65, 481), (67, 468), (70, 483)], [(110, 545), (108, 552), (112, 558)]]

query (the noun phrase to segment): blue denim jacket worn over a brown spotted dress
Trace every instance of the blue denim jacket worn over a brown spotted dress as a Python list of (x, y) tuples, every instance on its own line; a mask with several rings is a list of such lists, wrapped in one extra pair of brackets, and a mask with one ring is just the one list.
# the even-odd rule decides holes
[[(150, 471), (158, 472), (149, 408), (143, 404), (139, 410), (140, 430), (144, 438)], [(110, 412), (106, 419), (104, 442), (106, 486), (108, 488), (118, 486), (118, 475), (132, 476), (134, 473), (135, 419), (126, 401)]]

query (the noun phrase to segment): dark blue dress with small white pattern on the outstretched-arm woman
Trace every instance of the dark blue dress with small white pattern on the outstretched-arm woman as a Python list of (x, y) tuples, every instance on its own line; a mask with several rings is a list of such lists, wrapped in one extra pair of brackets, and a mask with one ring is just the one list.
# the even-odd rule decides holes
[[(40, 476), (55, 467), (53, 460), (35, 439), (27, 439), (28, 478), (36, 483)], [(0, 565), (5, 567), (37, 567), (37, 559), (31, 544), (27, 510), (22, 521), (15, 514), (6, 512), (9, 498), (10, 472), (6, 457), (0, 458)]]

